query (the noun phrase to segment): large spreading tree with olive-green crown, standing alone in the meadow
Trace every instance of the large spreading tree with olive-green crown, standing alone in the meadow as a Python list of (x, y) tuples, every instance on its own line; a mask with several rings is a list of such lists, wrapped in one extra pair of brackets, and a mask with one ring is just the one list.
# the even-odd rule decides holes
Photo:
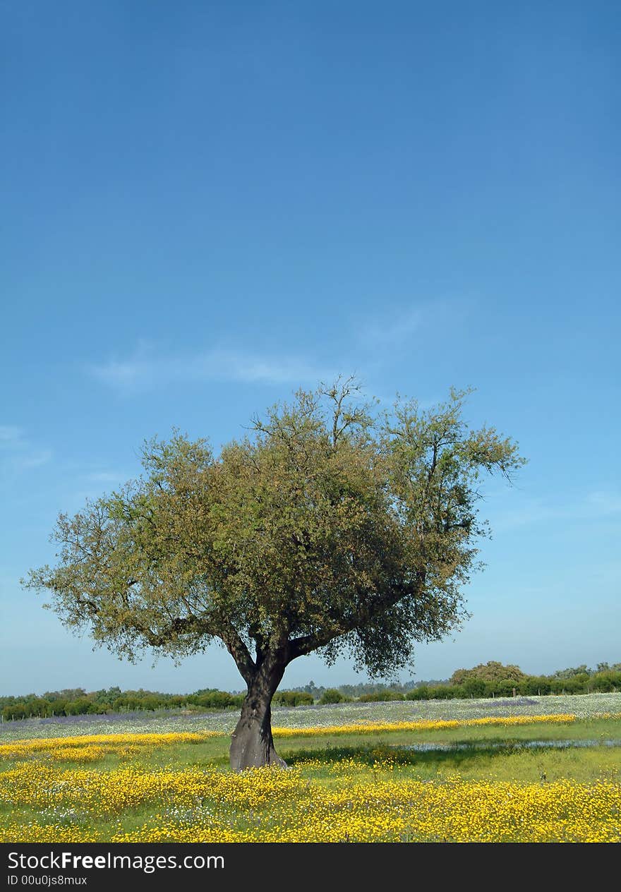
[(468, 392), (381, 414), (350, 378), (253, 419), (219, 456), (175, 434), (145, 443), (145, 475), (52, 534), (58, 566), (23, 584), (52, 592), (62, 623), (135, 659), (180, 659), (219, 640), (248, 688), (230, 764), (283, 764), (270, 704), (296, 657), (349, 652), (375, 676), (410, 663), (468, 614), (479, 478), (525, 459), (462, 420)]

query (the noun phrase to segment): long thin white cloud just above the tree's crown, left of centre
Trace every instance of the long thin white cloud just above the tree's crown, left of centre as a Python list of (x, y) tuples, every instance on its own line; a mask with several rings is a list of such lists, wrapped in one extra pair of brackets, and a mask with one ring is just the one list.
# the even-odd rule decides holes
[(335, 372), (299, 357), (266, 358), (214, 349), (194, 355), (162, 356), (141, 344), (128, 359), (109, 359), (89, 371), (123, 393), (152, 390), (163, 384), (236, 381), (245, 384), (317, 384)]

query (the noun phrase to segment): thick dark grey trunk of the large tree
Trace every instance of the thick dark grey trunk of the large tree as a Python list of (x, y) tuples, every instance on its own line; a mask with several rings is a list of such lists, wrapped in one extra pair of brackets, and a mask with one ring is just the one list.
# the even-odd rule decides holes
[(229, 751), (233, 771), (286, 765), (274, 748), (271, 732), (271, 699), (285, 673), (285, 665), (262, 665), (248, 682), (242, 714), (231, 737)]

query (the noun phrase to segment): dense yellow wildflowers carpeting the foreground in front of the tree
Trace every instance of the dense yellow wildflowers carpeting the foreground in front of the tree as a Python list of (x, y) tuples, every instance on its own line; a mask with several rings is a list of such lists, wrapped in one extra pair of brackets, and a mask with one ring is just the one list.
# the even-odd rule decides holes
[[(621, 784), (394, 776), (394, 762), (4, 772), (4, 842), (621, 841)], [(313, 772), (328, 772), (327, 781)]]

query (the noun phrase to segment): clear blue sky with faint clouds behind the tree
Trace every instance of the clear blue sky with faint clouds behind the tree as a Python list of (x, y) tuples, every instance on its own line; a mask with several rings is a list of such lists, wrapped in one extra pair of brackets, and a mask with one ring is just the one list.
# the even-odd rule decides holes
[[(240, 689), (21, 591), (59, 511), (177, 425), (218, 447), (339, 372), (529, 464), (418, 679), (621, 659), (618, 4), (0, 4), (0, 693)], [(407, 679), (410, 673), (402, 673)], [(316, 657), (284, 685), (355, 681)]]

